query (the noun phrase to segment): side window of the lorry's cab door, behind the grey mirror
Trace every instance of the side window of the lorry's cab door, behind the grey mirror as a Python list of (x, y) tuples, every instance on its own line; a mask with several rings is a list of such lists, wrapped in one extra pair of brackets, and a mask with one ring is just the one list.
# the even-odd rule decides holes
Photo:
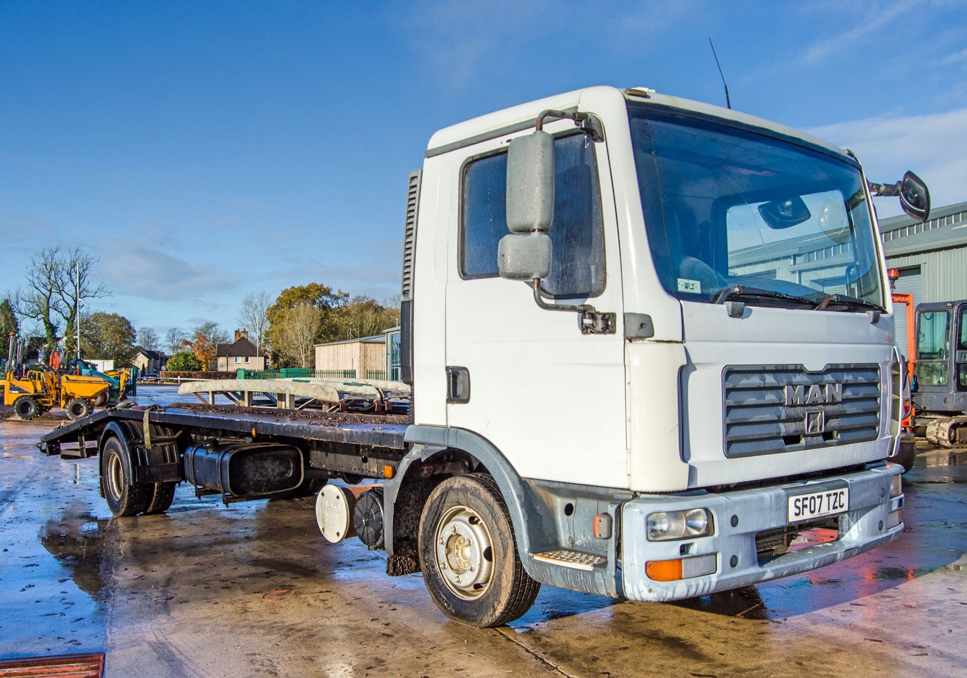
[[(604, 226), (594, 142), (586, 134), (554, 141), (554, 221), (550, 278), (555, 297), (604, 291)], [(497, 276), (497, 243), (507, 229), (507, 153), (468, 162), (463, 171), (460, 276)]]

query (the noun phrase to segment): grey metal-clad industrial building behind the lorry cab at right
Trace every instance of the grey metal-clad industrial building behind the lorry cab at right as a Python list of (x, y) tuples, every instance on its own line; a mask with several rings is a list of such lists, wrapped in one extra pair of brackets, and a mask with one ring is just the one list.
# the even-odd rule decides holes
[[(967, 202), (930, 210), (929, 221), (880, 220), (887, 267), (899, 271), (895, 292), (914, 302), (967, 299)], [(906, 353), (906, 315), (896, 312), (896, 345)]]

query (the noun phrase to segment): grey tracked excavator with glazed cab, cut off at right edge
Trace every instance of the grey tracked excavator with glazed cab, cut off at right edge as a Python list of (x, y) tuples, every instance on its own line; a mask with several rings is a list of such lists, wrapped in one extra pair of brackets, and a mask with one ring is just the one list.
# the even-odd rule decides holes
[(917, 307), (916, 407), (926, 437), (967, 444), (967, 300)]

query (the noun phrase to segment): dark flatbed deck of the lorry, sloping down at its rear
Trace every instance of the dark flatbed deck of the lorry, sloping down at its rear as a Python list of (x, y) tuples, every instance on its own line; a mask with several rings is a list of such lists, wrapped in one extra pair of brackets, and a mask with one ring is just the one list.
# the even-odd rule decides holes
[(41, 450), (46, 454), (58, 454), (55, 450), (61, 443), (76, 441), (81, 436), (90, 440), (111, 421), (143, 422), (146, 411), (148, 421), (152, 424), (190, 428), (199, 432), (211, 430), (396, 450), (405, 448), (403, 434), (406, 432), (406, 418), (398, 415), (377, 416), (175, 403), (157, 409), (127, 407), (100, 410), (41, 436)]

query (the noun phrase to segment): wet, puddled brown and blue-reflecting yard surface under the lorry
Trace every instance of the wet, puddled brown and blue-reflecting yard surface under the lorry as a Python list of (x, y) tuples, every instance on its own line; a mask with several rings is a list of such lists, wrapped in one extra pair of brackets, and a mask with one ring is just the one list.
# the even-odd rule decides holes
[(61, 421), (0, 419), (0, 658), (105, 651), (118, 678), (967, 674), (967, 451), (921, 449), (903, 537), (870, 553), (679, 604), (544, 586), (480, 631), (381, 552), (328, 545), (308, 500), (181, 486), (166, 515), (113, 518), (94, 459), (34, 447)]

